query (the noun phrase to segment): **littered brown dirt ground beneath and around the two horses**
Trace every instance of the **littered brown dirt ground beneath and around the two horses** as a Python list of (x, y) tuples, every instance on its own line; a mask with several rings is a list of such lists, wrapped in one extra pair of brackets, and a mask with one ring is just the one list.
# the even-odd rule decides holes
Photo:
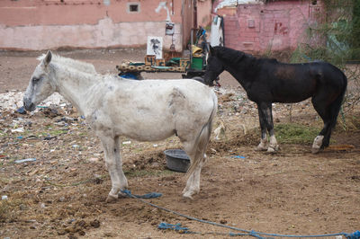
[[(0, 93), (23, 91), (40, 53), (0, 52)], [(58, 53), (93, 63), (99, 73), (116, 74), (115, 66), (122, 59), (142, 61), (145, 49)], [(311, 143), (281, 142), (281, 150), (268, 155), (255, 150), (259, 141), (256, 105), (247, 101), (230, 75), (222, 74), (220, 84), (214, 128), (222, 121), (226, 137), (211, 137), (200, 193), (193, 200), (183, 199), (184, 173), (166, 169), (163, 151), (181, 146), (176, 137), (151, 143), (122, 137), (123, 169), (132, 193), (161, 192), (162, 197), (145, 200), (191, 217), (258, 232), (322, 235), (360, 230), (357, 106), (346, 115), (347, 130), (338, 120), (331, 146), (324, 152), (312, 155)], [(136, 199), (105, 203), (111, 181), (103, 150), (76, 109), (40, 108), (33, 114), (0, 110), (2, 238), (226, 238), (229, 232), (239, 233)], [(275, 104), (274, 117), (275, 124), (293, 121), (317, 131), (322, 124), (310, 101), (293, 104), (292, 111), (289, 105)], [(15, 163), (27, 158), (36, 160)], [(199, 234), (159, 230), (161, 222), (180, 223)]]

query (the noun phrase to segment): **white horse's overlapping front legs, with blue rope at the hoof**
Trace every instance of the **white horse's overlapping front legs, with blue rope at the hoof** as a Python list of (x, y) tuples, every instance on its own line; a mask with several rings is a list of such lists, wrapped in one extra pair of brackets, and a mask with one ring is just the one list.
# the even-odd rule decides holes
[(112, 180), (112, 190), (110, 190), (106, 202), (118, 199), (120, 190), (128, 187), (128, 181), (122, 171), (119, 137), (100, 136), (105, 154), (105, 164)]

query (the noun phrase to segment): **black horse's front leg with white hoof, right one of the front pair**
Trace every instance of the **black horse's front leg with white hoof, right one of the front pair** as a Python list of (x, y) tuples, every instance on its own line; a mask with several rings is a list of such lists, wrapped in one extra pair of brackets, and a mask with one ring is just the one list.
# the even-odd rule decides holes
[(269, 142), (269, 146), (267, 147), (267, 152), (273, 153), (279, 149), (279, 145), (277, 144), (277, 140), (275, 137), (271, 102), (259, 103), (257, 107), (260, 109), (263, 115), (263, 120), (265, 121), (266, 129), (269, 132), (269, 136), (270, 136), (270, 142)]

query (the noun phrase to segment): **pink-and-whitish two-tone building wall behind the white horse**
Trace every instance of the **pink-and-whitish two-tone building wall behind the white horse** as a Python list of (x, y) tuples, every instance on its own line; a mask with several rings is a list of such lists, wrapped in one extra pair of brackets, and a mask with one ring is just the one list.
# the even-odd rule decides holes
[[(175, 49), (182, 50), (183, 2), (192, 1), (2, 0), (0, 49), (139, 47), (148, 36), (163, 37), (168, 49), (172, 38), (165, 35), (165, 24), (170, 18)], [(139, 4), (138, 13), (128, 11), (133, 3)]]

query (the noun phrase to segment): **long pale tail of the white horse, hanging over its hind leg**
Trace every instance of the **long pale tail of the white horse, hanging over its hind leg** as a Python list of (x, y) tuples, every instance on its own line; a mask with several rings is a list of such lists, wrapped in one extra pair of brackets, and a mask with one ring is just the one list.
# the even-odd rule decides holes
[(189, 169), (186, 173), (186, 178), (189, 178), (190, 175), (193, 174), (195, 169), (200, 165), (203, 164), (205, 161), (205, 152), (206, 148), (209, 144), (209, 139), (211, 136), (211, 128), (212, 128), (212, 120), (216, 115), (216, 111), (218, 110), (218, 98), (215, 93), (211, 92), (212, 95), (212, 111), (209, 117), (209, 120), (202, 126), (202, 130), (200, 134), (196, 137), (195, 140), (195, 154), (193, 156), (193, 164), (190, 165)]

